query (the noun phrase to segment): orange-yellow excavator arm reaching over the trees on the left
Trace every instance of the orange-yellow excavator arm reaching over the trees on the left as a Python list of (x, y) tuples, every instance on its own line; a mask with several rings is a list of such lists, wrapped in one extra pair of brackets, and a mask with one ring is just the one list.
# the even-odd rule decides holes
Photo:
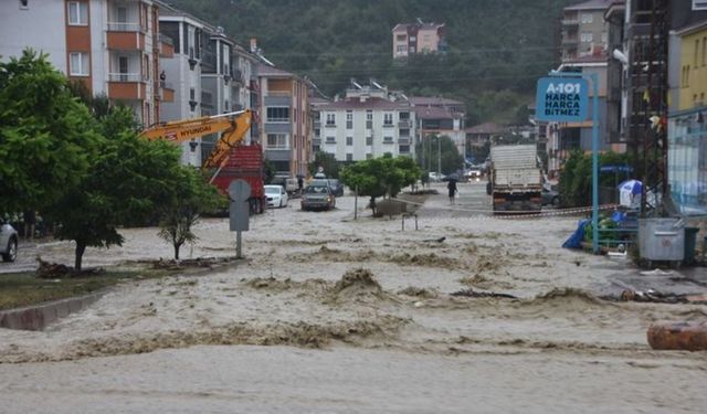
[(229, 150), (243, 141), (251, 127), (253, 114), (250, 109), (208, 116), (194, 119), (176, 120), (148, 128), (140, 134), (149, 140), (165, 139), (184, 142), (210, 134), (221, 134), (215, 148), (202, 162), (202, 168), (221, 168), (228, 160)]

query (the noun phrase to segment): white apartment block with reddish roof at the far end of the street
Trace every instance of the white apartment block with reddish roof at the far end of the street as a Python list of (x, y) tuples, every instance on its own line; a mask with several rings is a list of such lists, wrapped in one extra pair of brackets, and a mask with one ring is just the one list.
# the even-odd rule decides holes
[(413, 156), (415, 112), (374, 82), (352, 83), (346, 97), (318, 102), (314, 107), (314, 148), (333, 153), (338, 161)]

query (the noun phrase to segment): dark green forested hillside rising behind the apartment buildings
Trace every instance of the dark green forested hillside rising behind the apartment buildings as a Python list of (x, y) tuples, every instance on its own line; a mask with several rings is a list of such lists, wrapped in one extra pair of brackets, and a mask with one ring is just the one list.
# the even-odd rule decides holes
[[(239, 43), (257, 39), (278, 67), (327, 97), (351, 78), (466, 103), (467, 125), (520, 124), (536, 79), (557, 66), (559, 19), (572, 0), (170, 0)], [(392, 59), (398, 23), (444, 22), (446, 54)]]

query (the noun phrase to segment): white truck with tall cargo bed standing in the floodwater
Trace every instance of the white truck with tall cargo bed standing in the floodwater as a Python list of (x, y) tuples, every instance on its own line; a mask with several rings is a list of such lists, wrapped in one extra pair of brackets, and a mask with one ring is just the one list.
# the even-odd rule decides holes
[(487, 192), (494, 213), (539, 213), (542, 209), (542, 170), (535, 145), (490, 148)]

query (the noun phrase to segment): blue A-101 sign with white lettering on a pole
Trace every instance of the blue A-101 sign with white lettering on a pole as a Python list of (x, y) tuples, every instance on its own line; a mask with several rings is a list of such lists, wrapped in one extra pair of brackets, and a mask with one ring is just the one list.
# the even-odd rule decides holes
[(536, 119), (561, 123), (587, 120), (588, 82), (580, 77), (538, 79)]

